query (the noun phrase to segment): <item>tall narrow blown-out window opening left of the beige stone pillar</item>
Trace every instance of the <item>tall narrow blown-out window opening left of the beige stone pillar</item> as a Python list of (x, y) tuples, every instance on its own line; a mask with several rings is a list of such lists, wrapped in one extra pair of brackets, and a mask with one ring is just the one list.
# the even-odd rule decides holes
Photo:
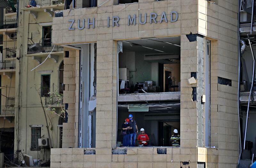
[(73, 44), (79, 51), (78, 148), (96, 145), (96, 62), (97, 44)]

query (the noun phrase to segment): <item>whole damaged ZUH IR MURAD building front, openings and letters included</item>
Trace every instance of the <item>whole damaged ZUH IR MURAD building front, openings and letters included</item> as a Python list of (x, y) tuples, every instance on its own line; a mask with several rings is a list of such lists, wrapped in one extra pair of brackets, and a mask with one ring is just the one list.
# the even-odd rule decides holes
[[(236, 167), (238, 2), (83, 3), (52, 23), (68, 123), (51, 167)], [(122, 147), (129, 114), (152, 147)]]

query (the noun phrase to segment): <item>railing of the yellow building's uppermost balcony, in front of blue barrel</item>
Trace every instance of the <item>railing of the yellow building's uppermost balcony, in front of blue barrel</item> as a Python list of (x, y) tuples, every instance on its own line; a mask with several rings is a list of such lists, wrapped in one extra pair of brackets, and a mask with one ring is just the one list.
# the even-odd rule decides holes
[(25, 0), (24, 6), (31, 5), (32, 7), (37, 6), (48, 6), (48, 5), (56, 5), (56, 4), (64, 4), (64, 0)]

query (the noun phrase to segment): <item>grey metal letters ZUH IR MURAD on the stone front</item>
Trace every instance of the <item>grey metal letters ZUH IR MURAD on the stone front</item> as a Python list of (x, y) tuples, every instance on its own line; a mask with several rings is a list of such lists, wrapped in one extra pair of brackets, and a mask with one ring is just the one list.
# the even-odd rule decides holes
[[(156, 17), (157, 17), (157, 14), (156, 13), (150, 13), (149, 14), (149, 23), (150, 24), (152, 24), (153, 22), (154, 23), (157, 23), (156, 22)], [(142, 21), (142, 20), (144, 20), (144, 21)], [(162, 16), (161, 16), (161, 19), (160, 19), (160, 23), (162, 23), (163, 21), (164, 22), (168, 22), (168, 20), (170, 21), (170, 22), (175, 22), (175, 21), (177, 21), (178, 20), (178, 12), (176, 12), (176, 11), (172, 11), (171, 13), (170, 13), (170, 18), (167, 18), (167, 16), (166, 16), (166, 14), (165, 14), (165, 12), (163, 12), (162, 13)], [(118, 21), (119, 21), (119, 17), (118, 16), (113, 16), (112, 17), (112, 23), (110, 23), (110, 18), (108, 17), (108, 28), (110, 27), (110, 26), (112, 26), (112, 27), (115, 27), (115, 26), (119, 26), (119, 24), (118, 24)], [(145, 13), (145, 15), (144, 15), (144, 18), (143, 18), (143, 16), (141, 16), (141, 14), (139, 15), (139, 24), (145, 24), (146, 22), (147, 22), (148, 20), (147, 20), (147, 13)], [(75, 23), (75, 20), (68, 20), (68, 22), (71, 22), (70, 23), (70, 25), (69, 25), (69, 28), (68, 28), (68, 30), (75, 30), (75, 28), (74, 28), (74, 23)], [(88, 19), (87, 20), (87, 28), (89, 29), (90, 28), (90, 26), (91, 26), (91, 28), (95, 28), (95, 25), (94, 25), (94, 23), (95, 23), (95, 18), (93, 18), (92, 20), (90, 20), (90, 19)], [(80, 19), (78, 19), (77, 20), (77, 28), (79, 29), (79, 30), (83, 30), (84, 29), (84, 24), (85, 24), (85, 19), (82, 19), (82, 20), (80, 20)], [(136, 25), (136, 15), (134, 14), (132, 17), (130, 16), (130, 15), (128, 15), (128, 26), (129, 25)]]

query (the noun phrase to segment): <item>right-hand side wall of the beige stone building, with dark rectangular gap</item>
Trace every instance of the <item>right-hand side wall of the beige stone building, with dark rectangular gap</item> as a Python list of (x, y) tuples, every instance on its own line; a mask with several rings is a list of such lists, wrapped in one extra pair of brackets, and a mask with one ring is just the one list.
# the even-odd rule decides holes
[[(211, 146), (219, 148), (220, 167), (236, 166), (238, 158), (237, 10), (237, 1), (198, 1), (198, 33), (212, 40)], [(218, 84), (218, 76), (232, 86)]]

